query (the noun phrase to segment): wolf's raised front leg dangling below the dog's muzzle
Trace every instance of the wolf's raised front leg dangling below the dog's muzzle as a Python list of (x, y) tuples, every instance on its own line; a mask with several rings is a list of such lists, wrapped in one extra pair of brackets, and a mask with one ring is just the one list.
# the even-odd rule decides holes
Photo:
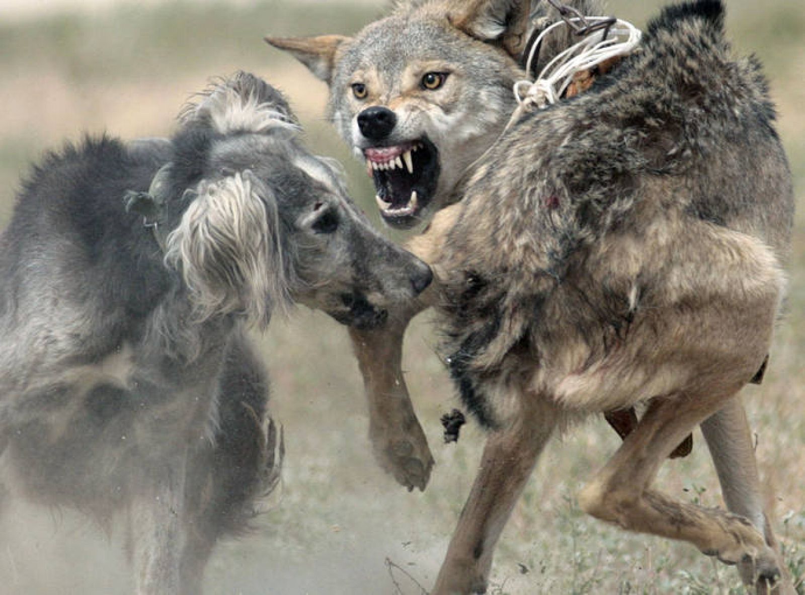
[(403, 378), (403, 336), (411, 316), (374, 330), (349, 329), (369, 404), (369, 439), (399, 484), (424, 490), (433, 457)]

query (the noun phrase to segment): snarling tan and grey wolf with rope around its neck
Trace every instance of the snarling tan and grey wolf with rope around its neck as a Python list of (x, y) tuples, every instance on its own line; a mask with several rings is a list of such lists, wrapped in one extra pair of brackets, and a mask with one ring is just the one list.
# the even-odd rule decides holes
[[(768, 353), (791, 233), (766, 80), (756, 60), (733, 58), (722, 3), (688, 2), (663, 10), (586, 92), (506, 129), (530, 31), (558, 19), (547, 2), (423, 0), (354, 38), (270, 39), (328, 82), (329, 115), (369, 164), (386, 221), (436, 213), (411, 242), (440, 281), (424, 301), (440, 309), (445, 361), (490, 433), (432, 593), (484, 592), (557, 428), (636, 403), (646, 412), (582, 490), (583, 509), (737, 564), (758, 593), (794, 593), (737, 397)], [(535, 72), (574, 43), (561, 31)], [(431, 457), (404, 385), (390, 384), (401, 372), (371, 358), (393, 361), (421, 307), (353, 333), (374, 424), (402, 428), (378, 454), (419, 487)], [(699, 424), (730, 513), (651, 487)], [(407, 457), (389, 454), (394, 443)]]

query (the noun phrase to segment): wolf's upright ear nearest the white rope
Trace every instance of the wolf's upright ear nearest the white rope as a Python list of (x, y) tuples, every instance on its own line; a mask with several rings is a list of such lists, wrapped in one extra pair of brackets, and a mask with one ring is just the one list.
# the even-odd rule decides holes
[(456, 0), (448, 19), (453, 27), (481, 41), (502, 43), (511, 56), (526, 44), (529, 0)]

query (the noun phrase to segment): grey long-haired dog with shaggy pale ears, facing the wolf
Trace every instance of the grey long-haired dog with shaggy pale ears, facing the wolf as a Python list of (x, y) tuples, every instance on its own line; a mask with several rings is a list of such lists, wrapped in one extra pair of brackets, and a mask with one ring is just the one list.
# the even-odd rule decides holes
[(142, 595), (200, 593), (279, 479), (247, 326), (300, 302), (371, 328), (431, 279), (270, 85), (240, 73), (181, 122), (50, 154), (0, 238), (2, 485), (121, 514)]

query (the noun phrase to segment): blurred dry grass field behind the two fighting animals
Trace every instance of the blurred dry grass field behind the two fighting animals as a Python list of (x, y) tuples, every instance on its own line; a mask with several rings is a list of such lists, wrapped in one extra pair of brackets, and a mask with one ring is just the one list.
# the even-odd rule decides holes
[[(323, 120), (325, 87), (262, 36), (349, 33), (384, 2), (169, 2), (100, 14), (0, 21), (0, 228), (27, 163), (83, 131), (125, 137), (168, 134), (188, 97), (212, 76), (246, 69), (287, 92), (316, 151), (348, 166), (354, 196), (373, 213), (362, 167)], [(645, 23), (659, 2), (611, 2)], [(805, 199), (805, 8), (802, 0), (730, 0), (728, 27), (741, 52), (766, 63), (800, 203)], [(745, 390), (774, 524), (791, 567), (805, 573), (805, 221), (799, 209), (789, 312), (766, 382)], [(439, 417), (456, 406), (434, 355), (437, 338), (418, 320), (407, 340), (412, 395), (436, 457), (424, 494), (379, 471), (365, 436), (362, 386), (345, 332), (299, 309), (259, 337), (270, 369), (272, 411), (285, 428), (283, 488), (253, 536), (225, 543), (208, 568), (221, 595), (413, 595), (435, 579), (469, 492), (482, 444), (464, 428), (441, 441)], [(663, 470), (680, 498), (720, 505), (704, 440)], [(580, 514), (576, 491), (617, 440), (600, 420), (548, 448), (497, 551), (490, 593), (743, 593), (735, 573), (692, 547), (626, 535)], [(0, 595), (130, 591), (118, 535), (66, 510), (19, 503), (0, 522)], [(393, 565), (389, 566), (386, 560)], [(805, 589), (800, 587), (800, 593)]]

